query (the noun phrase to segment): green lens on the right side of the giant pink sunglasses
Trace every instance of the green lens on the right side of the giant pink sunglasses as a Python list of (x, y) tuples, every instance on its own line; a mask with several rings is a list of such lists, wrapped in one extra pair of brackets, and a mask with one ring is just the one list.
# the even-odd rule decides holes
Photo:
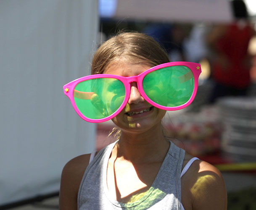
[(190, 99), (194, 89), (194, 76), (186, 66), (169, 66), (147, 74), (142, 85), (145, 94), (153, 102), (176, 107)]

